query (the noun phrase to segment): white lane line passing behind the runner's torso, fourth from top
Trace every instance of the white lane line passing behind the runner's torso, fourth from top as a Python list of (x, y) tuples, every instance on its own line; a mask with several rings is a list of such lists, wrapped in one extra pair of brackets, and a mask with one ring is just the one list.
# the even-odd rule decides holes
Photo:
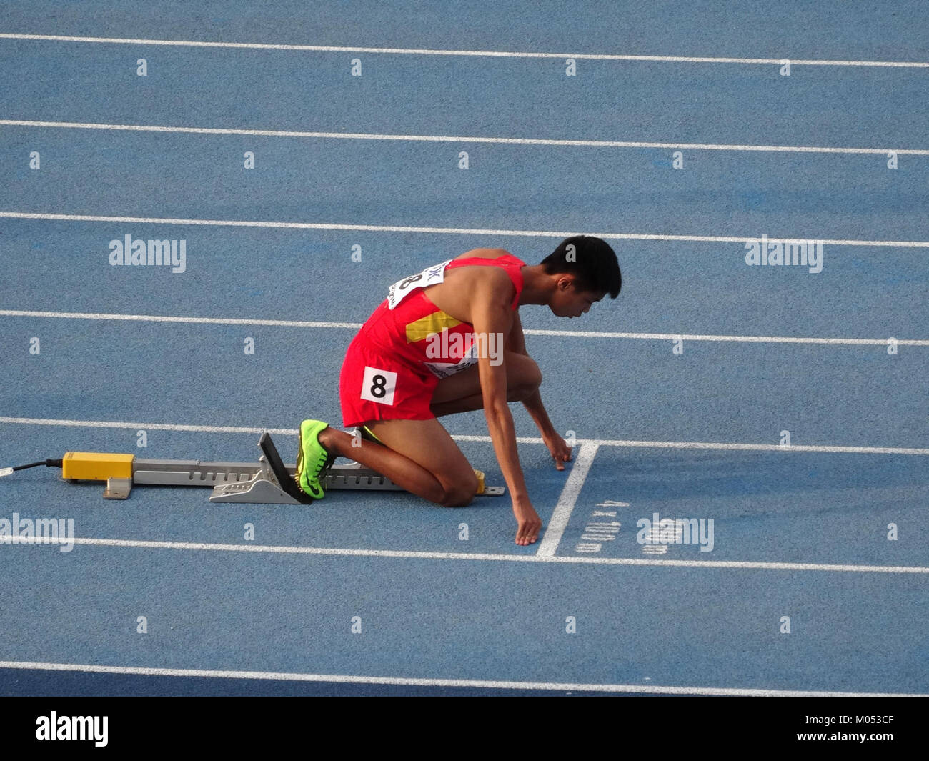
[[(115, 320), (142, 322), (189, 322), (191, 324), (216, 325), (266, 325), (282, 328), (345, 328), (358, 330), (360, 322), (319, 322), (298, 320), (258, 320), (229, 317), (175, 317), (157, 314), (111, 314), (107, 312), (52, 312), (33, 309), (0, 309), (0, 317), (40, 317), (65, 320)], [(788, 335), (692, 335), (687, 333), (603, 333), (580, 330), (533, 330), (524, 328), (526, 335), (555, 335), (568, 338), (623, 338), (638, 340), (669, 341), (681, 338), (685, 341), (728, 341), (754, 344), (822, 344), (827, 346), (881, 346), (889, 338), (817, 338), (793, 337)], [(895, 338), (897, 346), (929, 347), (929, 340)]]

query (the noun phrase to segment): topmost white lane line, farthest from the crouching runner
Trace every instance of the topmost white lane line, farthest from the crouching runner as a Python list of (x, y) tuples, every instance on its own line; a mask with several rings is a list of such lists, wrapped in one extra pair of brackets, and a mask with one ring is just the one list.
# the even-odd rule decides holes
[[(358, 47), (331, 45), (285, 45), (275, 43), (208, 42), (201, 40), (152, 40), (127, 37), (86, 37), (64, 34), (21, 34), (2, 33), (0, 39), (37, 40), (45, 42), (80, 42), (107, 45), (159, 45), (182, 47), (227, 47), (248, 50), (293, 50), (313, 53), (374, 53), (408, 56), (466, 56), (472, 58), (507, 59), (581, 59), (581, 60), (629, 60), (656, 61), (666, 63), (741, 63), (769, 64), (779, 66), (784, 59), (724, 58), (718, 56), (648, 56), (619, 53), (544, 53), (518, 50), (443, 50), (427, 47)], [(879, 66), (891, 68), (929, 68), (929, 63), (904, 60), (831, 60), (790, 59), (792, 66)]]

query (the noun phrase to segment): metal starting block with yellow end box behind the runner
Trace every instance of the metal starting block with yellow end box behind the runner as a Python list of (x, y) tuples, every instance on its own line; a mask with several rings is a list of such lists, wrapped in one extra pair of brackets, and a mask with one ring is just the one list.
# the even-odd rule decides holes
[[(133, 454), (69, 452), (61, 460), (61, 478), (106, 481), (105, 499), (127, 499), (133, 486), (199, 486), (213, 489), (210, 502), (257, 505), (310, 505), (313, 498), (294, 480), (295, 465), (284, 465), (268, 433), (258, 440), (257, 463), (204, 463), (200, 460), (142, 460)], [(478, 494), (496, 496), (500, 486), (485, 486), (478, 476)], [(324, 491), (403, 489), (371, 468), (351, 462), (330, 468), (322, 482)]]

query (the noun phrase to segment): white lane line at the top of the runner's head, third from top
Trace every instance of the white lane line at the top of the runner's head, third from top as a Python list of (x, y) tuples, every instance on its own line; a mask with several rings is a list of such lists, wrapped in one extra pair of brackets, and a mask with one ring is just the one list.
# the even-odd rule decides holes
[[(684, 241), (689, 243), (752, 243), (755, 235), (664, 235), (646, 232), (590, 232), (569, 230), (491, 230), (482, 228), (432, 228), (399, 225), (348, 225), (333, 222), (269, 222), (246, 219), (184, 219), (162, 216), (111, 216), (90, 214), (47, 214), (39, 212), (0, 211), (0, 218), (42, 219), (64, 222), (121, 222), (139, 225), (199, 225), (206, 227), (272, 228), (281, 230), (351, 230), (365, 232), (424, 232), (440, 235), (512, 235), (526, 238), (569, 238), (574, 235), (594, 235), (617, 241)], [(768, 237), (768, 243), (807, 243), (804, 238)], [(890, 246), (896, 248), (929, 248), (929, 241), (857, 241), (849, 239), (816, 239), (823, 245)]]

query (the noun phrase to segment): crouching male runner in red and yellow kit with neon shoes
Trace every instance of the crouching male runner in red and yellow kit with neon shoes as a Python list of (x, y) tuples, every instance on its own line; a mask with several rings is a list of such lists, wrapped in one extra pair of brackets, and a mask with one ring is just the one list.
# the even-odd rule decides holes
[(516, 543), (535, 543), (542, 520), (526, 490), (507, 402), (523, 403), (558, 470), (571, 450), (543, 407), (542, 374), (526, 353), (518, 308), (539, 304), (580, 317), (621, 286), (616, 254), (591, 236), (562, 241), (537, 265), (476, 248), (395, 282), (342, 365), (343, 424), (358, 426), (359, 435), (303, 421), (294, 478), (321, 499), (321, 479), (341, 456), (436, 505), (468, 505), (477, 476), (436, 418), (483, 409), (513, 500)]

